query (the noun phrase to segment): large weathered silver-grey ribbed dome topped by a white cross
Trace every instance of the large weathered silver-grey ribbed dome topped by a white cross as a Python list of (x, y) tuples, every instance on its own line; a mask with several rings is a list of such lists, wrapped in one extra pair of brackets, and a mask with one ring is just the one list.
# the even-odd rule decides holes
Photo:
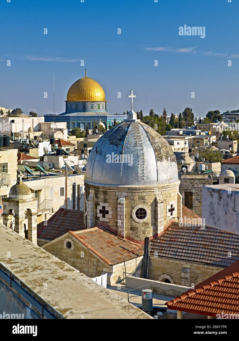
[[(110, 162), (111, 155), (113, 161), (115, 155), (121, 155), (128, 162)], [(127, 120), (95, 143), (87, 162), (86, 181), (119, 186), (173, 183), (178, 181), (177, 162), (170, 145), (153, 128)]]

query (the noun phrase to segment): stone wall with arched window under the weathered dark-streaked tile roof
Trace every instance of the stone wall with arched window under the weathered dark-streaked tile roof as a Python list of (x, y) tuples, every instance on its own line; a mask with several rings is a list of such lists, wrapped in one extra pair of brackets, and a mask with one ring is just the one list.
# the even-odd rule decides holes
[(170, 276), (171, 283), (173, 280), (174, 284), (185, 285), (185, 278), (181, 276), (181, 271), (184, 268), (189, 269), (189, 287), (203, 282), (205, 279), (223, 269), (222, 267), (204, 265), (196, 262), (150, 256), (149, 279), (158, 281), (159, 277), (164, 274)]

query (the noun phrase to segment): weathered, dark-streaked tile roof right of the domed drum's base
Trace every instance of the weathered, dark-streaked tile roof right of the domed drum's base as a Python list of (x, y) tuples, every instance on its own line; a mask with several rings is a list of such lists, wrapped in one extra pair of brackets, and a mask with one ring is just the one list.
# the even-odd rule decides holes
[(239, 235), (211, 227), (180, 227), (172, 222), (151, 240), (150, 250), (158, 257), (226, 267), (239, 261)]

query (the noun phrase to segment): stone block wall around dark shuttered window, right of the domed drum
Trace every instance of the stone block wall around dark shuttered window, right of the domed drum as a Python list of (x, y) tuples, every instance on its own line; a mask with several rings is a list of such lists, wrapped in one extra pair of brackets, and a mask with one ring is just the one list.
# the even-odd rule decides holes
[(208, 177), (184, 177), (180, 178), (179, 193), (182, 195), (182, 204), (184, 205), (184, 192), (193, 192), (193, 212), (201, 217), (202, 207), (202, 187), (212, 185), (212, 178)]

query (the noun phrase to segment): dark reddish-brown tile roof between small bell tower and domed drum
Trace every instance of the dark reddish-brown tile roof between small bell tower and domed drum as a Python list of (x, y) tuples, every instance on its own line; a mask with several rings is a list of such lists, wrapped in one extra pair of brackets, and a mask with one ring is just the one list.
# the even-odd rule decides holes
[(50, 219), (47, 225), (41, 222), (37, 226), (37, 237), (41, 239), (53, 240), (66, 232), (84, 229), (84, 212), (60, 208)]

